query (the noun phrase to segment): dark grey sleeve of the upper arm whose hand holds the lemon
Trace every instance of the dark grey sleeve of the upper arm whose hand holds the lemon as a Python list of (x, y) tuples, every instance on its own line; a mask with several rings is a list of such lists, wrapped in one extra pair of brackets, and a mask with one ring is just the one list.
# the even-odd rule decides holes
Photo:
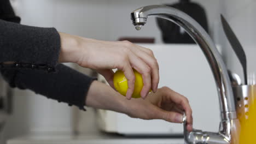
[(20, 68), (31, 65), (38, 68), (39, 65), (45, 70), (54, 70), (59, 51), (60, 35), (55, 28), (0, 20), (0, 63), (11, 61), (18, 63)]

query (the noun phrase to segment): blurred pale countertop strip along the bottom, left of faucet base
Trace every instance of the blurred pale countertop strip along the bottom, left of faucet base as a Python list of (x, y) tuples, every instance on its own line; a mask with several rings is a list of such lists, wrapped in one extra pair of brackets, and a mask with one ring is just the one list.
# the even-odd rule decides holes
[(183, 144), (184, 140), (177, 137), (126, 137), (115, 134), (101, 133), (65, 135), (65, 134), (40, 134), (27, 135), (8, 140), (7, 144)]

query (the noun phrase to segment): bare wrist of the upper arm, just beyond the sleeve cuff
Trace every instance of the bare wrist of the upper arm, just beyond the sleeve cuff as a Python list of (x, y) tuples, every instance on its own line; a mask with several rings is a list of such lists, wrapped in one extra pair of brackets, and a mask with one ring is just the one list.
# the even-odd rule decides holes
[(78, 53), (79, 53), (79, 38), (74, 35), (69, 35), (66, 33), (61, 33), (61, 47), (60, 47), (60, 63), (76, 63), (78, 61)]

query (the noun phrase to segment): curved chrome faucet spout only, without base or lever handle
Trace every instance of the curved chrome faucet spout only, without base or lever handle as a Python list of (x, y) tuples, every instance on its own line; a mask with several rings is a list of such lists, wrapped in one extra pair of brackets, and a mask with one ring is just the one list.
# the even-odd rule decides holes
[[(219, 94), (219, 103), (222, 119), (236, 118), (234, 96), (228, 71), (216, 46), (205, 30), (190, 16), (177, 9), (165, 5), (149, 5), (139, 8), (131, 13), (131, 19), (136, 29), (147, 23), (148, 16), (161, 17), (170, 20), (183, 27), (185, 31), (195, 40), (205, 54), (212, 69)], [(139, 28), (137, 28), (139, 27)]]

